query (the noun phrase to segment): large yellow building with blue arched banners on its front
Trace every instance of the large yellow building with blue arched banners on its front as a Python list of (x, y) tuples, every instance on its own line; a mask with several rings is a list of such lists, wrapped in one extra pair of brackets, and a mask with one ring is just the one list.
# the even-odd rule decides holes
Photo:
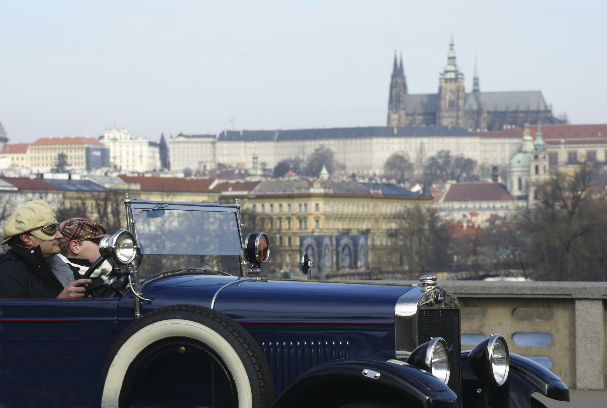
[(429, 197), (395, 185), (299, 180), (261, 182), (245, 200), (255, 228), (270, 236), (277, 264), (299, 270), (306, 251), (313, 274), (326, 277), (343, 270), (391, 269), (393, 231), (408, 207), (431, 205)]

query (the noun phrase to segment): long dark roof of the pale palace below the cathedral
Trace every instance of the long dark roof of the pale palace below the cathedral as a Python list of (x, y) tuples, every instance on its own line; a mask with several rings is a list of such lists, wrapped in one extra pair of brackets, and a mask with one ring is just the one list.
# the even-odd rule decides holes
[(330, 129), (296, 129), (290, 131), (223, 131), (218, 141), (323, 140), (364, 137), (429, 137), (472, 136), (463, 127), (452, 126), (332, 127)]

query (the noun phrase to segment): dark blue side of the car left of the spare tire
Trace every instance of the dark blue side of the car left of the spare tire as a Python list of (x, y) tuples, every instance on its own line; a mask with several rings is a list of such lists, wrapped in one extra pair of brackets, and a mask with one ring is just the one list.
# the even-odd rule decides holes
[(99, 406), (118, 298), (0, 299), (0, 405)]

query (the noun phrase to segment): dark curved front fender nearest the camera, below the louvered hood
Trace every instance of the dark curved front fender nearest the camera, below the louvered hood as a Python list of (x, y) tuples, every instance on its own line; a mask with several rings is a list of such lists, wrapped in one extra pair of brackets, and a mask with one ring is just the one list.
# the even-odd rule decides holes
[[(367, 375), (363, 371), (367, 370)], [(373, 374), (379, 373), (375, 378)], [(407, 407), (455, 407), (456, 395), (435, 376), (397, 360), (343, 358), (308, 370), (276, 398), (273, 408), (336, 408), (359, 401)]]

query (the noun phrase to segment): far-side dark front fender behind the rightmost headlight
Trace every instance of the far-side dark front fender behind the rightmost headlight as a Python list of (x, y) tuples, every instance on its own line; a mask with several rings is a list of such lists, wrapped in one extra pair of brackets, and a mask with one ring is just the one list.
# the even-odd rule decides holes
[[(464, 407), (475, 407), (481, 401), (476, 392), (481, 384), (468, 366), (468, 353), (461, 353), (462, 403)], [(489, 387), (489, 406), (531, 408), (534, 392), (553, 400), (569, 401), (569, 389), (558, 376), (535, 361), (510, 353), (508, 379), (502, 386)], [(537, 400), (535, 403), (540, 404)]]

